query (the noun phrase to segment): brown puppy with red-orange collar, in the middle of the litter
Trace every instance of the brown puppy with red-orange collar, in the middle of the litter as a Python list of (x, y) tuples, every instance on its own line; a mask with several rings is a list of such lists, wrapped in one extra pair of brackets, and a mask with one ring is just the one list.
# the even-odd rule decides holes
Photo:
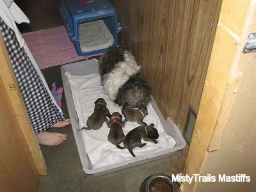
[(112, 113), (110, 120), (106, 119), (106, 123), (110, 128), (108, 134), (108, 140), (113, 143), (117, 148), (124, 149), (119, 144), (123, 142), (125, 135), (123, 132), (124, 122), (122, 121), (122, 115), (118, 112)]

